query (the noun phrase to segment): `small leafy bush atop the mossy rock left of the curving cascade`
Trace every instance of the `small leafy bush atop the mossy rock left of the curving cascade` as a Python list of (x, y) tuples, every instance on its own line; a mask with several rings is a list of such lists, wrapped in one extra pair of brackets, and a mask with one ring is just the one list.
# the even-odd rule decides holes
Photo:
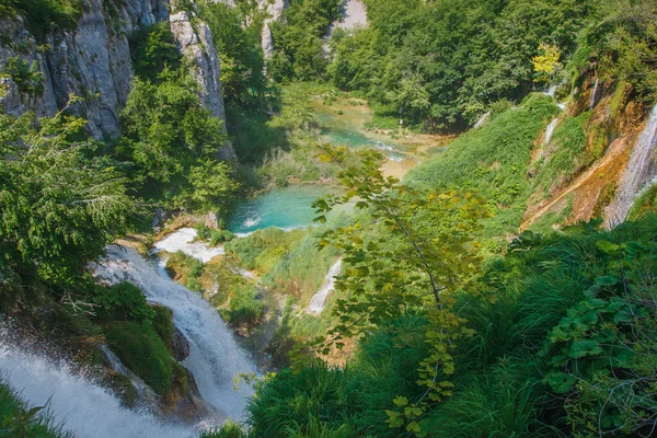
[(99, 315), (114, 321), (152, 322), (157, 313), (146, 302), (146, 297), (137, 286), (119, 283), (114, 286), (99, 286), (93, 295), (99, 306)]

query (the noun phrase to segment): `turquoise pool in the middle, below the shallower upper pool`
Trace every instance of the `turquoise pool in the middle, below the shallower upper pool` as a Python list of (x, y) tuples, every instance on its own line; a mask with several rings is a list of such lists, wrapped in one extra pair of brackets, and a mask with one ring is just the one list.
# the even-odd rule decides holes
[[(278, 227), (283, 229), (312, 226), (318, 216), (311, 207), (313, 200), (327, 193), (337, 193), (334, 187), (320, 185), (296, 185), (277, 187), (254, 198), (240, 199), (230, 209), (227, 228), (237, 234)], [(345, 210), (342, 206), (339, 210)]]

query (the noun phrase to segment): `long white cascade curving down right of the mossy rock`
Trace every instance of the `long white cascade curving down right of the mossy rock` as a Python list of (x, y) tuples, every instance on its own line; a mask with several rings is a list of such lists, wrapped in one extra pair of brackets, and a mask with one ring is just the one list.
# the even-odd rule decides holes
[(189, 342), (189, 356), (183, 365), (194, 374), (201, 397), (226, 418), (243, 418), (246, 399), (253, 391), (245, 384), (235, 391), (233, 379), (255, 368), (207, 301), (174, 283), (130, 247), (108, 246), (95, 273), (110, 283), (134, 283), (149, 301), (171, 309), (175, 326)]

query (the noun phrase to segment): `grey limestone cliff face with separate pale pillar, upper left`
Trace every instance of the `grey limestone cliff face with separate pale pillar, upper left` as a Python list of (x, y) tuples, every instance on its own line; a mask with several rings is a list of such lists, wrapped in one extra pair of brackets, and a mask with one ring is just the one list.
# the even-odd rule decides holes
[[(139, 26), (170, 20), (172, 30), (184, 31), (177, 35), (178, 47), (195, 61), (203, 103), (224, 117), (219, 57), (205, 23), (194, 19), (195, 32), (185, 12), (170, 18), (168, 0), (84, 0), (82, 11), (74, 31), (51, 32), (38, 44), (20, 18), (0, 20), (0, 71), (7, 70), (11, 58), (20, 57), (28, 65), (35, 62), (43, 73), (43, 92), (32, 95), (21, 92), (13, 79), (2, 78), (0, 104), (5, 113), (53, 116), (73, 94), (82, 101), (71, 108), (89, 120), (93, 137), (118, 136), (118, 114), (134, 78), (128, 36)], [(234, 152), (228, 145), (218, 155), (232, 159)]]

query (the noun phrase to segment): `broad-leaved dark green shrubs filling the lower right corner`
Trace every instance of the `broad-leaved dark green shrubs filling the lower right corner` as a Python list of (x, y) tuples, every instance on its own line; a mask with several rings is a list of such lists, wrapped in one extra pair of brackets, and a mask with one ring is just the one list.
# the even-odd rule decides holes
[[(654, 230), (650, 230), (654, 233)], [(654, 235), (654, 234), (653, 234)], [(657, 413), (654, 242), (601, 237), (598, 276), (550, 332), (545, 381), (577, 435), (649, 434)]]

